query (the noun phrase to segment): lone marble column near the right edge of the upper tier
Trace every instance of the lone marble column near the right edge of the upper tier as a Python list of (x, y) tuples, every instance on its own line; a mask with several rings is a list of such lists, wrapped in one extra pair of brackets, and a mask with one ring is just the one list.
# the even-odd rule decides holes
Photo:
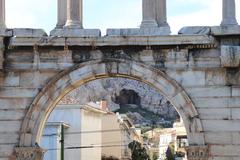
[(237, 25), (235, 0), (222, 0), (221, 26)]

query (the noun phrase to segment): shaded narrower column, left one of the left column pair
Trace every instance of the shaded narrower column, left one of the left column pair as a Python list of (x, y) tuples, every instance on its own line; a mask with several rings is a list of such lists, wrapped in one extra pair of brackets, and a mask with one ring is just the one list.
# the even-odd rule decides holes
[(63, 28), (67, 21), (67, 0), (58, 0), (58, 21), (56, 28)]

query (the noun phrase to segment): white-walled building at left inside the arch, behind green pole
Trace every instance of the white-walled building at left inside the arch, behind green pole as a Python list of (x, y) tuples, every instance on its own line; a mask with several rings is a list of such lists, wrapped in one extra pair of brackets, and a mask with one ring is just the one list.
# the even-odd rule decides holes
[(60, 122), (68, 124), (64, 133), (66, 160), (101, 160), (101, 119), (106, 113), (89, 105), (57, 106), (48, 119), (41, 141), (41, 146), (47, 149), (44, 160), (60, 160)]

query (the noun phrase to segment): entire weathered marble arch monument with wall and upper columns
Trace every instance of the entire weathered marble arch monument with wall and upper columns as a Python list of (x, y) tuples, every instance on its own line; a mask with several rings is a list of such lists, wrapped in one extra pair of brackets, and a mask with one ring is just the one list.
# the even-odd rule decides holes
[[(143, 0), (140, 28), (83, 29), (82, 0), (58, 0), (50, 36), (8, 29), (0, 0), (0, 160), (39, 160), (37, 143), (56, 103), (91, 80), (126, 77), (151, 85), (182, 116), (189, 160), (240, 159), (240, 26), (222, 0), (220, 26), (169, 35), (166, 0)], [(67, 7), (66, 7), (67, 6)]]

